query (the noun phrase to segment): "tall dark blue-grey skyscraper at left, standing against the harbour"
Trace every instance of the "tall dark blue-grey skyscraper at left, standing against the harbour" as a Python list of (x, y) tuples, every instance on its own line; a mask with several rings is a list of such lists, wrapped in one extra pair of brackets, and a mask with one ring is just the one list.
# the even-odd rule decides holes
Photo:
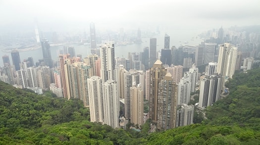
[(43, 59), (46, 66), (53, 67), (50, 44), (47, 39), (42, 40)]

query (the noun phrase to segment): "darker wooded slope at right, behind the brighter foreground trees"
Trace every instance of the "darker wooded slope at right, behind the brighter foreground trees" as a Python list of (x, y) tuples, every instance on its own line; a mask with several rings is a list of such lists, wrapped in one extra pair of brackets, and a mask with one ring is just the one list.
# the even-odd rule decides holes
[(206, 122), (248, 126), (260, 131), (260, 69), (235, 73), (226, 87), (230, 94), (208, 108)]

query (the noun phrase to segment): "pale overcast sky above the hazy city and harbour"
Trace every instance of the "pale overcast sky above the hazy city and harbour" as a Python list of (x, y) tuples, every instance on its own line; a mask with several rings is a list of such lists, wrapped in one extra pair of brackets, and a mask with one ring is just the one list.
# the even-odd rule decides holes
[(0, 0), (0, 31), (260, 25), (260, 0)]

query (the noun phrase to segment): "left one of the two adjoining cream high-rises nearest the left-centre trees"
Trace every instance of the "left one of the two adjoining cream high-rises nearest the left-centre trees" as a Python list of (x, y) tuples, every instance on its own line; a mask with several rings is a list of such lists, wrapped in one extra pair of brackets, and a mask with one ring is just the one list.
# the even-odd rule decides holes
[(88, 78), (89, 109), (91, 122), (103, 122), (102, 80), (98, 76)]

